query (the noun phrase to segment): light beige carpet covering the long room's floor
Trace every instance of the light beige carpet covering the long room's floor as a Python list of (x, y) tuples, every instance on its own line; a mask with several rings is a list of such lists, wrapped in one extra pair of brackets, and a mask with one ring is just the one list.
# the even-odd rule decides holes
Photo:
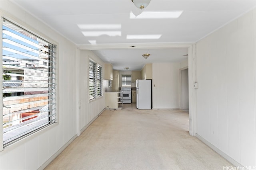
[(232, 166), (188, 133), (180, 110), (104, 111), (46, 170), (223, 170)]

